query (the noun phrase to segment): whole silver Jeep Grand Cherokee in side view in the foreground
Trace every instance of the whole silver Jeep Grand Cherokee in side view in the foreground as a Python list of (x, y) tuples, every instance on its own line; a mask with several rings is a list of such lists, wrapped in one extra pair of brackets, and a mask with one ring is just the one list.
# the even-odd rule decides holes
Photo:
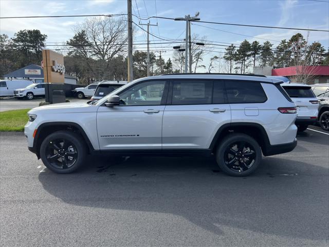
[(297, 145), (296, 105), (263, 76), (171, 74), (137, 79), (95, 103), (34, 108), (28, 148), (57, 173), (87, 153), (211, 155), (227, 174), (253, 172), (265, 156)]

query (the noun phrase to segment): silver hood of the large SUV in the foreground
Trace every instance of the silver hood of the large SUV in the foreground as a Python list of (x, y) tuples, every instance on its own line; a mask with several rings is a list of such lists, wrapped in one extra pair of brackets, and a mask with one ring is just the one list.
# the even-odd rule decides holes
[(41, 107), (33, 108), (29, 113), (79, 113), (79, 112), (96, 112), (97, 108), (95, 105), (90, 105), (85, 102), (75, 103), (58, 103), (58, 104), (47, 104)]

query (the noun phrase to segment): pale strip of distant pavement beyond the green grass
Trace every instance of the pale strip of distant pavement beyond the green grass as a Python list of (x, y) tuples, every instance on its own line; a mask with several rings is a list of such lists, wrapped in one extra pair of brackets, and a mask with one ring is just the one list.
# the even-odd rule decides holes
[[(90, 99), (78, 99), (69, 98), (70, 102), (87, 102)], [(13, 97), (2, 97), (0, 98), (0, 112), (18, 109), (29, 109), (34, 107), (39, 107), (39, 103), (45, 101), (45, 98), (38, 97), (32, 100), (27, 99), (15, 99)]]

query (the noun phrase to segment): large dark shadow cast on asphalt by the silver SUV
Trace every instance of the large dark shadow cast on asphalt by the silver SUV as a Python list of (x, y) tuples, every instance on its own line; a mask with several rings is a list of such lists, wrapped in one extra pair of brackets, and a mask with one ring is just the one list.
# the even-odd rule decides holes
[[(111, 164), (89, 157), (88, 162), (92, 165), (73, 174), (46, 169), (39, 180), (68, 204), (175, 214), (217, 235), (232, 227), (236, 234), (244, 229), (327, 239), (326, 167), (272, 156), (249, 177), (235, 178), (220, 171), (212, 157), (131, 157)], [(309, 179), (313, 175), (318, 178)]]

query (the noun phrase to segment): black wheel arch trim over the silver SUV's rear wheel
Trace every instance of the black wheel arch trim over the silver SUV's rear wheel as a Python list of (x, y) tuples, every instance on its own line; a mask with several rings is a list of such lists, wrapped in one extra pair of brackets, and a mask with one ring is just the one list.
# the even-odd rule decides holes
[(213, 152), (216, 150), (220, 140), (230, 133), (244, 133), (254, 138), (260, 145), (264, 155), (267, 154), (270, 146), (269, 138), (266, 130), (262, 125), (255, 122), (231, 122), (221, 126), (214, 135), (209, 149)]

